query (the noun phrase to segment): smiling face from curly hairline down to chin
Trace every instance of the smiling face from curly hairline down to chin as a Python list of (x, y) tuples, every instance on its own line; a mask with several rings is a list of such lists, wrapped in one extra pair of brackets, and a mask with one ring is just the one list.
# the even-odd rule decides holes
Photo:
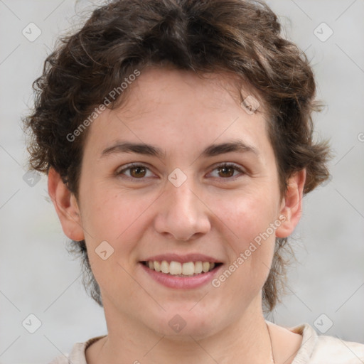
[(90, 126), (68, 235), (85, 237), (107, 318), (212, 335), (261, 310), (290, 229), (264, 113), (226, 75), (149, 68), (129, 87)]

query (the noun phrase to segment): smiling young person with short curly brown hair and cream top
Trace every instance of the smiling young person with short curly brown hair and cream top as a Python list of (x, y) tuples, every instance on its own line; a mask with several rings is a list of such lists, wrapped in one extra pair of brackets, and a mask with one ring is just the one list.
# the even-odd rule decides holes
[(112, 1), (36, 91), (31, 165), (108, 329), (53, 363), (363, 362), (359, 343), (264, 320), (329, 155), (309, 63), (267, 5)]

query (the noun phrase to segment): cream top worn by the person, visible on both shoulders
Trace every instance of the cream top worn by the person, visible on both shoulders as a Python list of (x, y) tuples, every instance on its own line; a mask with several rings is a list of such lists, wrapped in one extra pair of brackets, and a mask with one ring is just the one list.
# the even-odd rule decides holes
[[(364, 364), (364, 344), (342, 341), (332, 336), (318, 336), (309, 323), (288, 329), (303, 336), (301, 347), (291, 364)], [(69, 355), (58, 356), (50, 364), (87, 364), (86, 348), (103, 337), (76, 343)]]

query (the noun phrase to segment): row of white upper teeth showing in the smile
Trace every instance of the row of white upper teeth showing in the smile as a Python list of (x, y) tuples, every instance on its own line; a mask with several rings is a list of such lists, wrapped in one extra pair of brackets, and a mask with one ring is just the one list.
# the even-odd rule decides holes
[(158, 262), (156, 260), (146, 262), (146, 266), (149, 269), (153, 269), (156, 272), (163, 272), (165, 274), (171, 274), (175, 276), (193, 276), (193, 274), (206, 273), (214, 269), (215, 263), (210, 262), (167, 262), (163, 260)]

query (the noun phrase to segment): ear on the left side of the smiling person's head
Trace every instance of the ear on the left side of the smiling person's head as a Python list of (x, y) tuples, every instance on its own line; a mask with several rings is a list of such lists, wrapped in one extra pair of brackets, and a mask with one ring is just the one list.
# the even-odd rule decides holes
[(48, 171), (48, 193), (65, 235), (75, 241), (84, 240), (80, 209), (75, 195), (65, 186), (60, 174), (54, 168)]

